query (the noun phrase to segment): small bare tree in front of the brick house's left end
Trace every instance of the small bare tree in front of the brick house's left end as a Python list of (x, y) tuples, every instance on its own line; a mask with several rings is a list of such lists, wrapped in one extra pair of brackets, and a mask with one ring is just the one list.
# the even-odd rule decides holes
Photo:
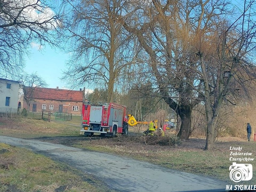
[(29, 112), (29, 104), (33, 101), (33, 93), (36, 87), (46, 87), (46, 82), (36, 73), (32, 74), (22, 74), (20, 75), (20, 89), (23, 90), (23, 99), (25, 100), (28, 106)]

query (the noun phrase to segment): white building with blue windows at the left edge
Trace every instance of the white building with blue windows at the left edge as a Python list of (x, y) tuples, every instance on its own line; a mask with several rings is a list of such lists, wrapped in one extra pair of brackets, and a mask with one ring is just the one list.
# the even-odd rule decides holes
[(0, 112), (17, 113), (20, 81), (0, 78)]

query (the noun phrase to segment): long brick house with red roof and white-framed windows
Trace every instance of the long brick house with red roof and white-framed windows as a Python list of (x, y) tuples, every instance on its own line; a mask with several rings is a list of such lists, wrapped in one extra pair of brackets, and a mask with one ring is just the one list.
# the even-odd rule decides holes
[[(24, 87), (26, 96), (29, 97), (29, 106), (24, 98), (23, 108), (31, 112), (45, 111), (82, 114), (82, 103), (84, 99), (84, 90), (80, 91), (66, 90), (44, 87)], [(25, 97), (25, 95), (24, 95)]]

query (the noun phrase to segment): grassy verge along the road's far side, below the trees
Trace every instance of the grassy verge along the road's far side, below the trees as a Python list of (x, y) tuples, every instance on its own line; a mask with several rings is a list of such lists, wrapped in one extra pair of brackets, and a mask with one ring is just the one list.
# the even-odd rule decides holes
[[(253, 168), (256, 167), (256, 146), (253, 142), (235, 142), (220, 143), (221, 149), (214, 151), (206, 151), (200, 149), (192, 149), (179, 146), (149, 146), (136, 144), (134, 142), (110, 142), (110, 141), (81, 141), (76, 147), (82, 147), (94, 151), (107, 152), (120, 156), (131, 157), (137, 160), (148, 161), (157, 165), (165, 166), (171, 169), (177, 169), (183, 172), (195, 173), (199, 175), (207, 175), (223, 181), (230, 182), (229, 166), (232, 165), (230, 158), (230, 146), (242, 146), (241, 152), (252, 152), (251, 158), (255, 158), (250, 162)], [(224, 146), (224, 147), (223, 147)], [(242, 182), (242, 184), (256, 183), (256, 174), (250, 181)], [(235, 184), (235, 183), (234, 183)]]

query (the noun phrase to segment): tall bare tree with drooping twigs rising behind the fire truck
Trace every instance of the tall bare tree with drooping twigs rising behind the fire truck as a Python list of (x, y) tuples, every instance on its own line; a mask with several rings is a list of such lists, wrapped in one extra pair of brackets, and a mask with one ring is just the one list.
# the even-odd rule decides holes
[[(108, 102), (113, 102), (114, 88), (127, 79), (132, 68), (134, 43), (122, 23), (121, 0), (67, 1), (72, 15), (66, 20), (71, 35), (72, 59), (63, 79), (72, 84), (94, 84), (108, 90)], [(65, 22), (64, 22), (65, 23)]]

